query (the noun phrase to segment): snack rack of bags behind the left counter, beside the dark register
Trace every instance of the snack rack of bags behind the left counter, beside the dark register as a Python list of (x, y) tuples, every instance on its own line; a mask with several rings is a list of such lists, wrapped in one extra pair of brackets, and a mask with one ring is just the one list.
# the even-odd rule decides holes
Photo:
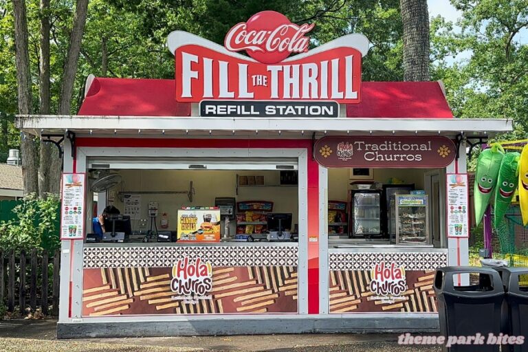
[(272, 201), (237, 202), (235, 239), (247, 240), (252, 234), (265, 233), (267, 231), (266, 215), (272, 211)]

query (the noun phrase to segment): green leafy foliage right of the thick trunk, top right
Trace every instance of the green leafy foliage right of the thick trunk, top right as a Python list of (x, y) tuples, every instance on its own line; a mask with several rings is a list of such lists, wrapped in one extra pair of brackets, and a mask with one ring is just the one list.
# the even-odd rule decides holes
[[(432, 20), (434, 77), (442, 79), (459, 118), (510, 118), (528, 131), (528, 5), (525, 0), (452, 0), (462, 18)], [(524, 42), (522, 32), (524, 32)]]

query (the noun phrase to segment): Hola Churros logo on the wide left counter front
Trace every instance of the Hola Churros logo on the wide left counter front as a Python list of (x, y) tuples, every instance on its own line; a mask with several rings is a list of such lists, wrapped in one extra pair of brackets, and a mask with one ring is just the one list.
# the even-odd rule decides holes
[(173, 267), (170, 289), (181, 296), (203, 296), (212, 289), (212, 266), (197, 258), (194, 262), (186, 256)]

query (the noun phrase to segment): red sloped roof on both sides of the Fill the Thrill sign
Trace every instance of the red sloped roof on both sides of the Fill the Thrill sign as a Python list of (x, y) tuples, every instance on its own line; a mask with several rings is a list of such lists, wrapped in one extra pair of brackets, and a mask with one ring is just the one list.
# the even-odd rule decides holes
[[(79, 115), (190, 116), (175, 100), (174, 80), (95, 78)], [(364, 82), (349, 118), (452, 118), (437, 82)]]

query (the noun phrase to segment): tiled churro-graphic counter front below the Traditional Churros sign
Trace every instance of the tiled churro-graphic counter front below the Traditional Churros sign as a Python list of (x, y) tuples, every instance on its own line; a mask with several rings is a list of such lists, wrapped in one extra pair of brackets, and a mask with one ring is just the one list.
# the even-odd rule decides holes
[(445, 250), (331, 252), (329, 312), (436, 312), (434, 270), (447, 264)]

